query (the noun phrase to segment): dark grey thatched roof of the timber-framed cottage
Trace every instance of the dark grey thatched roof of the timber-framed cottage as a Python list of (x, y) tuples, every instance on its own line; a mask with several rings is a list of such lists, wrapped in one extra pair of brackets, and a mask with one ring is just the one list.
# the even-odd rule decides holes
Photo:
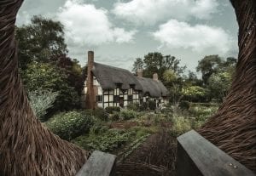
[(125, 69), (95, 62), (92, 72), (103, 89), (114, 89), (120, 84), (122, 89), (127, 90), (134, 85), (136, 90), (142, 91), (143, 94), (148, 93), (152, 97), (167, 95), (167, 89), (162, 82), (145, 77), (135, 77)]

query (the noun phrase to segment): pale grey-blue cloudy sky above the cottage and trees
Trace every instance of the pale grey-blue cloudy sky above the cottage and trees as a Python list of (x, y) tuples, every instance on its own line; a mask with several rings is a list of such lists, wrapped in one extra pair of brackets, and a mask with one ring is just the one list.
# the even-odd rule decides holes
[(148, 52), (171, 54), (188, 70), (198, 60), (238, 54), (235, 12), (228, 0), (25, 0), (16, 25), (33, 15), (59, 20), (65, 27), (68, 56), (131, 71)]

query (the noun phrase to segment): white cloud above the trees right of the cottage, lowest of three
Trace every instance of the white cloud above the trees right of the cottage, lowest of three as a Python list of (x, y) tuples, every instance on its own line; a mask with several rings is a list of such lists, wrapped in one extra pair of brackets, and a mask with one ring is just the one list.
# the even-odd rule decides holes
[(227, 54), (236, 48), (235, 41), (220, 27), (196, 25), (169, 20), (152, 33), (161, 47), (192, 49), (198, 53)]

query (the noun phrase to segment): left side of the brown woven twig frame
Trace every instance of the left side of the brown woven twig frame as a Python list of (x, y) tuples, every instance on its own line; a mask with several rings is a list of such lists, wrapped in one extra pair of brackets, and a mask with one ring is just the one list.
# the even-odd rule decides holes
[(15, 18), (21, 3), (0, 1), (0, 175), (74, 175), (88, 153), (44, 128), (20, 81)]

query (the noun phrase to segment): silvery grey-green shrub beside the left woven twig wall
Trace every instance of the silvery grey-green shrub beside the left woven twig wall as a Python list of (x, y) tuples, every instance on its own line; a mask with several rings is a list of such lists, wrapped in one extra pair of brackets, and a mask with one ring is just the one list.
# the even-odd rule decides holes
[(48, 90), (38, 90), (28, 93), (30, 105), (41, 122), (44, 122), (47, 110), (52, 107), (57, 97), (57, 92), (50, 92)]

